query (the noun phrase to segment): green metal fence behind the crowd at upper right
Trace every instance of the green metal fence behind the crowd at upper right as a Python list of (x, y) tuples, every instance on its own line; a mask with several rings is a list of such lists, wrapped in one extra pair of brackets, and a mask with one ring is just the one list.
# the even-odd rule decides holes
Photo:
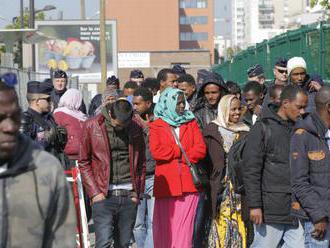
[(255, 64), (264, 67), (268, 80), (273, 79), (273, 67), (279, 57), (300, 56), (307, 62), (309, 74), (319, 74), (330, 81), (330, 23), (320, 22), (288, 31), (238, 53), (231, 61), (215, 65), (212, 70), (225, 80), (244, 84), (247, 69)]

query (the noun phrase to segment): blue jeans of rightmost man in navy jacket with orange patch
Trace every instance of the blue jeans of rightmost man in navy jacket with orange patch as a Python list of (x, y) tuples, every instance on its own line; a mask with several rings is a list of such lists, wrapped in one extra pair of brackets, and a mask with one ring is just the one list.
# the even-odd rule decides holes
[(330, 224), (328, 224), (327, 233), (323, 240), (316, 240), (312, 237), (314, 225), (310, 221), (304, 224), (305, 229), (305, 248), (329, 248), (330, 245)]

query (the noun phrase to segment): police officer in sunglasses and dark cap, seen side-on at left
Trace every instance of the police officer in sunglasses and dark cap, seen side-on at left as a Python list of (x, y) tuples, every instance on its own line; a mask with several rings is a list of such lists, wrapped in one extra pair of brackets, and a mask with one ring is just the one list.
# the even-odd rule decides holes
[(66, 144), (66, 130), (56, 125), (51, 114), (50, 94), (52, 90), (51, 85), (47, 83), (28, 82), (29, 108), (23, 113), (21, 132), (63, 162), (61, 154), (63, 154)]

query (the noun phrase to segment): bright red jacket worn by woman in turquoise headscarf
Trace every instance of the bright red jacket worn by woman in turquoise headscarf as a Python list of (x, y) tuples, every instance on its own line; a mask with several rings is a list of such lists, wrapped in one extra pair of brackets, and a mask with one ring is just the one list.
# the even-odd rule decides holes
[[(195, 120), (180, 126), (179, 139), (191, 163), (197, 163), (205, 157), (206, 146)], [(166, 198), (197, 192), (169, 124), (162, 119), (150, 123), (149, 143), (151, 154), (156, 160), (155, 197)], [(179, 163), (180, 158), (182, 163)]]

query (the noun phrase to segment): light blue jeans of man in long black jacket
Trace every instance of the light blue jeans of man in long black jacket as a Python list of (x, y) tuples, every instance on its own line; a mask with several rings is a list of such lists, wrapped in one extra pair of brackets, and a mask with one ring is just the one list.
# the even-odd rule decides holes
[(304, 247), (304, 228), (286, 224), (254, 225), (254, 240), (250, 248)]

